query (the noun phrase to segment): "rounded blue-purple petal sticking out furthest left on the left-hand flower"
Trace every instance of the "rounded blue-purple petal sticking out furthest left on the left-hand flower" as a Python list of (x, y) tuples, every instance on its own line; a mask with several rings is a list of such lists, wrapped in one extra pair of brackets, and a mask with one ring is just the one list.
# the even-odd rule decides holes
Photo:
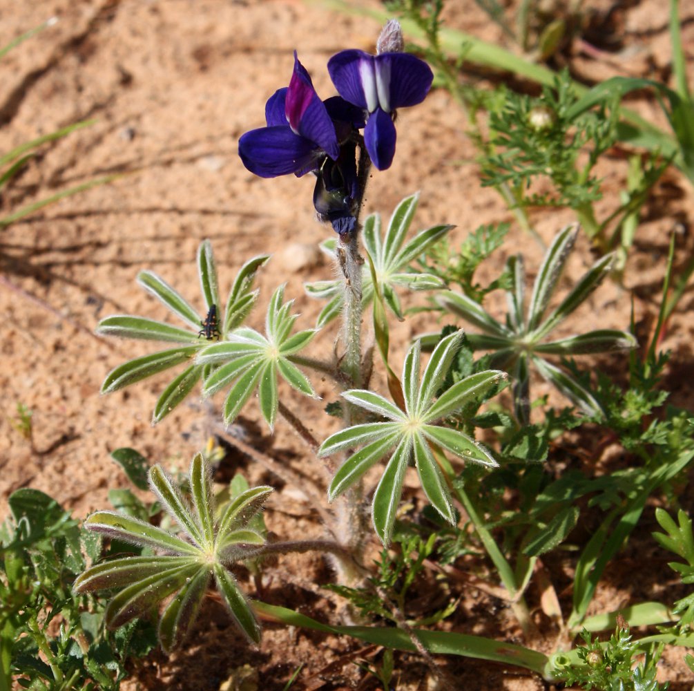
[(289, 125), (261, 127), (239, 139), (241, 160), (261, 178), (308, 172), (317, 167), (320, 153), (314, 142), (294, 134)]

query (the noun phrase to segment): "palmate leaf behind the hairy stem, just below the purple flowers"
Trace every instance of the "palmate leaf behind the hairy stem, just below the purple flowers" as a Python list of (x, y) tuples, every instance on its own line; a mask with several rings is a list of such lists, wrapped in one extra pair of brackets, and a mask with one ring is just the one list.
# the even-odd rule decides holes
[[(418, 193), (400, 201), (393, 211), (384, 235), (382, 235), (381, 219), (378, 214), (372, 214), (364, 221), (362, 238), (368, 259), (373, 265), (373, 273), (369, 262), (366, 262), (362, 272), (362, 308), (366, 308), (373, 302), (375, 295), (374, 277), (378, 281), (384, 303), (398, 319), (403, 319), (403, 312), (396, 288), (407, 288), (407, 290), (443, 288), (444, 284), (440, 278), (418, 272), (410, 265), (455, 226), (444, 224), (426, 228), (406, 243), (405, 238), (412, 225), (418, 202)], [(332, 259), (335, 259), (335, 247), (335, 241), (332, 240), (323, 242), (321, 245), (321, 249)], [(329, 301), (321, 310), (316, 322), (318, 328), (322, 328), (339, 316), (344, 306), (344, 281), (305, 283), (304, 288), (310, 297), (328, 299)]]

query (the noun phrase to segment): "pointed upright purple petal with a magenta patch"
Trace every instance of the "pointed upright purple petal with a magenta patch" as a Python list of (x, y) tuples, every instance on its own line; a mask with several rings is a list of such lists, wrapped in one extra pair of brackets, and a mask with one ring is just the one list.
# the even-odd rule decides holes
[(335, 125), (328, 110), (313, 88), (311, 77), (296, 57), (294, 51), (294, 74), (291, 75), (285, 114), (291, 129), (303, 138), (316, 142), (318, 147), (335, 160), (339, 154)]

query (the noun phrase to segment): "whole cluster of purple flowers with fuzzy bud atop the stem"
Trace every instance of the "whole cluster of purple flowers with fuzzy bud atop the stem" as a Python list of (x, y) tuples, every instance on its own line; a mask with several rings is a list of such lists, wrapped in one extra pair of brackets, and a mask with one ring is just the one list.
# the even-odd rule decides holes
[(373, 163), (385, 170), (393, 162), (396, 109), (421, 103), (433, 80), (423, 60), (398, 51), (397, 23), (389, 23), (387, 29), (398, 40), (385, 42), (386, 51), (380, 41), (376, 56), (347, 50), (328, 60), (328, 73), (339, 96), (325, 101), (316, 94), (295, 51), (289, 86), (266, 103), (266, 126), (246, 132), (239, 140), (244, 165), (262, 178), (314, 173), (316, 211), (340, 235), (355, 228), (364, 167)]

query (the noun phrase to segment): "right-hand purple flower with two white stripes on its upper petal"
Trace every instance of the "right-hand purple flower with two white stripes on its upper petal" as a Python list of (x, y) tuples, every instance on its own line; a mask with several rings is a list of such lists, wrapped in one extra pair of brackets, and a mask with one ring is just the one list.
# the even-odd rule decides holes
[(348, 50), (328, 60), (328, 72), (341, 97), (368, 114), (364, 145), (373, 165), (389, 168), (396, 143), (393, 113), (424, 100), (434, 79), (429, 65), (407, 53)]

